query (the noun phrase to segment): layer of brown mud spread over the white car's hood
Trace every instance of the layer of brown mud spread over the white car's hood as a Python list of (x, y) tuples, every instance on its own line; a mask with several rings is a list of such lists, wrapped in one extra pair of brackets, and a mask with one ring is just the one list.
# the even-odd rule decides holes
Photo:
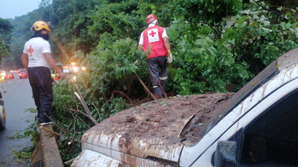
[[(137, 138), (156, 145), (181, 141), (186, 145), (193, 145), (200, 140), (198, 134), (204, 123), (218, 116), (213, 111), (233, 94), (199, 94), (151, 101), (121, 111), (91, 130), (98, 135), (121, 135), (120, 147), (130, 145)], [(194, 117), (196, 119), (191, 120)], [(185, 126), (190, 120), (195, 122)], [(89, 138), (89, 135), (85, 138)]]

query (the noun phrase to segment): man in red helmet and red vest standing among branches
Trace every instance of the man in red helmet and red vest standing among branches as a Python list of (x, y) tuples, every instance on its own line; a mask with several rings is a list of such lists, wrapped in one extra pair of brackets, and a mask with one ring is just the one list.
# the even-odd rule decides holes
[[(148, 28), (141, 34), (138, 50), (143, 49), (147, 55), (147, 66), (153, 85), (153, 93), (162, 97), (162, 90), (158, 86), (158, 82), (164, 89), (167, 80), (166, 65), (167, 62), (173, 61), (173, 56), (170, 53), (171, 48), (167, 32), (163, 27), (158, 26), (156, 15), (148, 15), (146, 21)], [(168, 53), (170, 55), (167, 58)]]

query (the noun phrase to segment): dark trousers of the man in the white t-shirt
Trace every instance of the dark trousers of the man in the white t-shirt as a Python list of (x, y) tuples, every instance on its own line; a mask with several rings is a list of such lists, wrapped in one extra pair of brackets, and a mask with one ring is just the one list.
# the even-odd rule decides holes
[(51, 116), (53, 103), (51, 72), (47, 67), (28, 67), (28, 78), (34, 102), (37, 106), (39, 123), (50, 122), (47, 116)]

